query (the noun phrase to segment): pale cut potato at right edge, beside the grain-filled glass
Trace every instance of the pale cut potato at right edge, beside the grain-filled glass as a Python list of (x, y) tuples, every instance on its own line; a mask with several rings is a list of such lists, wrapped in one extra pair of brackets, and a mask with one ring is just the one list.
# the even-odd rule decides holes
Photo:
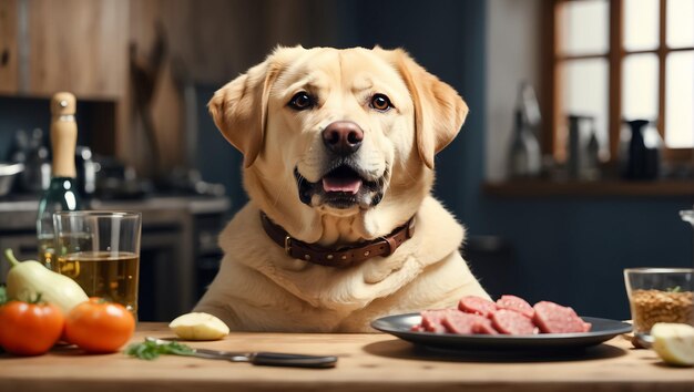
[(694, 327), (683, 323), (656, 322), (651, 329), (653, 350), (666, 363), (694, 365)]

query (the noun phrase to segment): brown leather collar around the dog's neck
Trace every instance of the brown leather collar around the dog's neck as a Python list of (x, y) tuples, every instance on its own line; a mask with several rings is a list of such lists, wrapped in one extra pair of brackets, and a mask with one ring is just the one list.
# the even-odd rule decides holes
[(356, 246), (330, 249), (293, 238), (282, 226), (273, 223), (263, 212), (261, 212), (261, 220), (267, 236), (275, 244), (283, 247), (287, 256), (327, 267), (349, 267), (371, 257), (390, 256), (415, 234), (415, 217), (411, 217), (405, 225), (396, 228), (386, 237), (359, 243)]

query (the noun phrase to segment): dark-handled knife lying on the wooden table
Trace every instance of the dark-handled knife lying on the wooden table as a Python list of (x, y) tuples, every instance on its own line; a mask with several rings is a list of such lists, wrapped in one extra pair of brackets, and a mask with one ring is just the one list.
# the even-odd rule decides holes
[[(169, 341), (157, 338), (145, 338), (149, 342), (156, 344), (166, 344)], [(283, 352), (237, 352), (237, 351), (220, 351), (210, 349), (195, 349), (191, 348), (193, 352), (191, 357), (227, 360), (232, 362), (248, 362), (256, 365), (266, 367), (293, 367), (293, 368), (314, 368), (326, 369), (335, 368), (337, 364), (337, 357), (334, 355), (305, 355), (305, 354), (289, 354)]]

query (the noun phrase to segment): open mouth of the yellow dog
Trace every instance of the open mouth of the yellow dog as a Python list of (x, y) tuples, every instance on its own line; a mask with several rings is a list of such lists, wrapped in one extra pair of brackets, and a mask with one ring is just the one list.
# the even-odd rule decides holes
[(294, 176), (298, 185), (299, 199), (312, 207), (327, 205), (347, 209), (359, 206), (366, 209), (380, 203), (384, 195), (385, 176), (369, 180), (348, 164), (333, 168), (316, 183), (304, 178), (297, 168), (294, 169)]

